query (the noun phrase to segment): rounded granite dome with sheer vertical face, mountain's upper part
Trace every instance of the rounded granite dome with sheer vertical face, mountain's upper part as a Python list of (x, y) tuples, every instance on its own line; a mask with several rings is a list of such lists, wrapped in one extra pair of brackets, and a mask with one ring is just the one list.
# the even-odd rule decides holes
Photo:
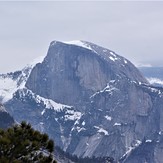
[(80, 106), (110, 80), (147, 82), (123, 57), (95, 44), (83, 44), (87, 48), (52, 42), (44, 61), (32, 70), (26, 87), (45, 98)]

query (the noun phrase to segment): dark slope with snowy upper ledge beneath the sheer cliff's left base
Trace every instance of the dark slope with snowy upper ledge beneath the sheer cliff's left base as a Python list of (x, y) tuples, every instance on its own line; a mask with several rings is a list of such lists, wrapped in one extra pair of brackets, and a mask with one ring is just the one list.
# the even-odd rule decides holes
[(56, 103), (27, 88), (18, 89), (13, 98), (6, 103), (6, 107), (9, 107), (10, 114), (18, 122), (26, 120), (35, 129), (48, 133), (64, 150), (70, 144), (72, 128), (76, 128), (82, 116), (82, 113), (72, 106)]

